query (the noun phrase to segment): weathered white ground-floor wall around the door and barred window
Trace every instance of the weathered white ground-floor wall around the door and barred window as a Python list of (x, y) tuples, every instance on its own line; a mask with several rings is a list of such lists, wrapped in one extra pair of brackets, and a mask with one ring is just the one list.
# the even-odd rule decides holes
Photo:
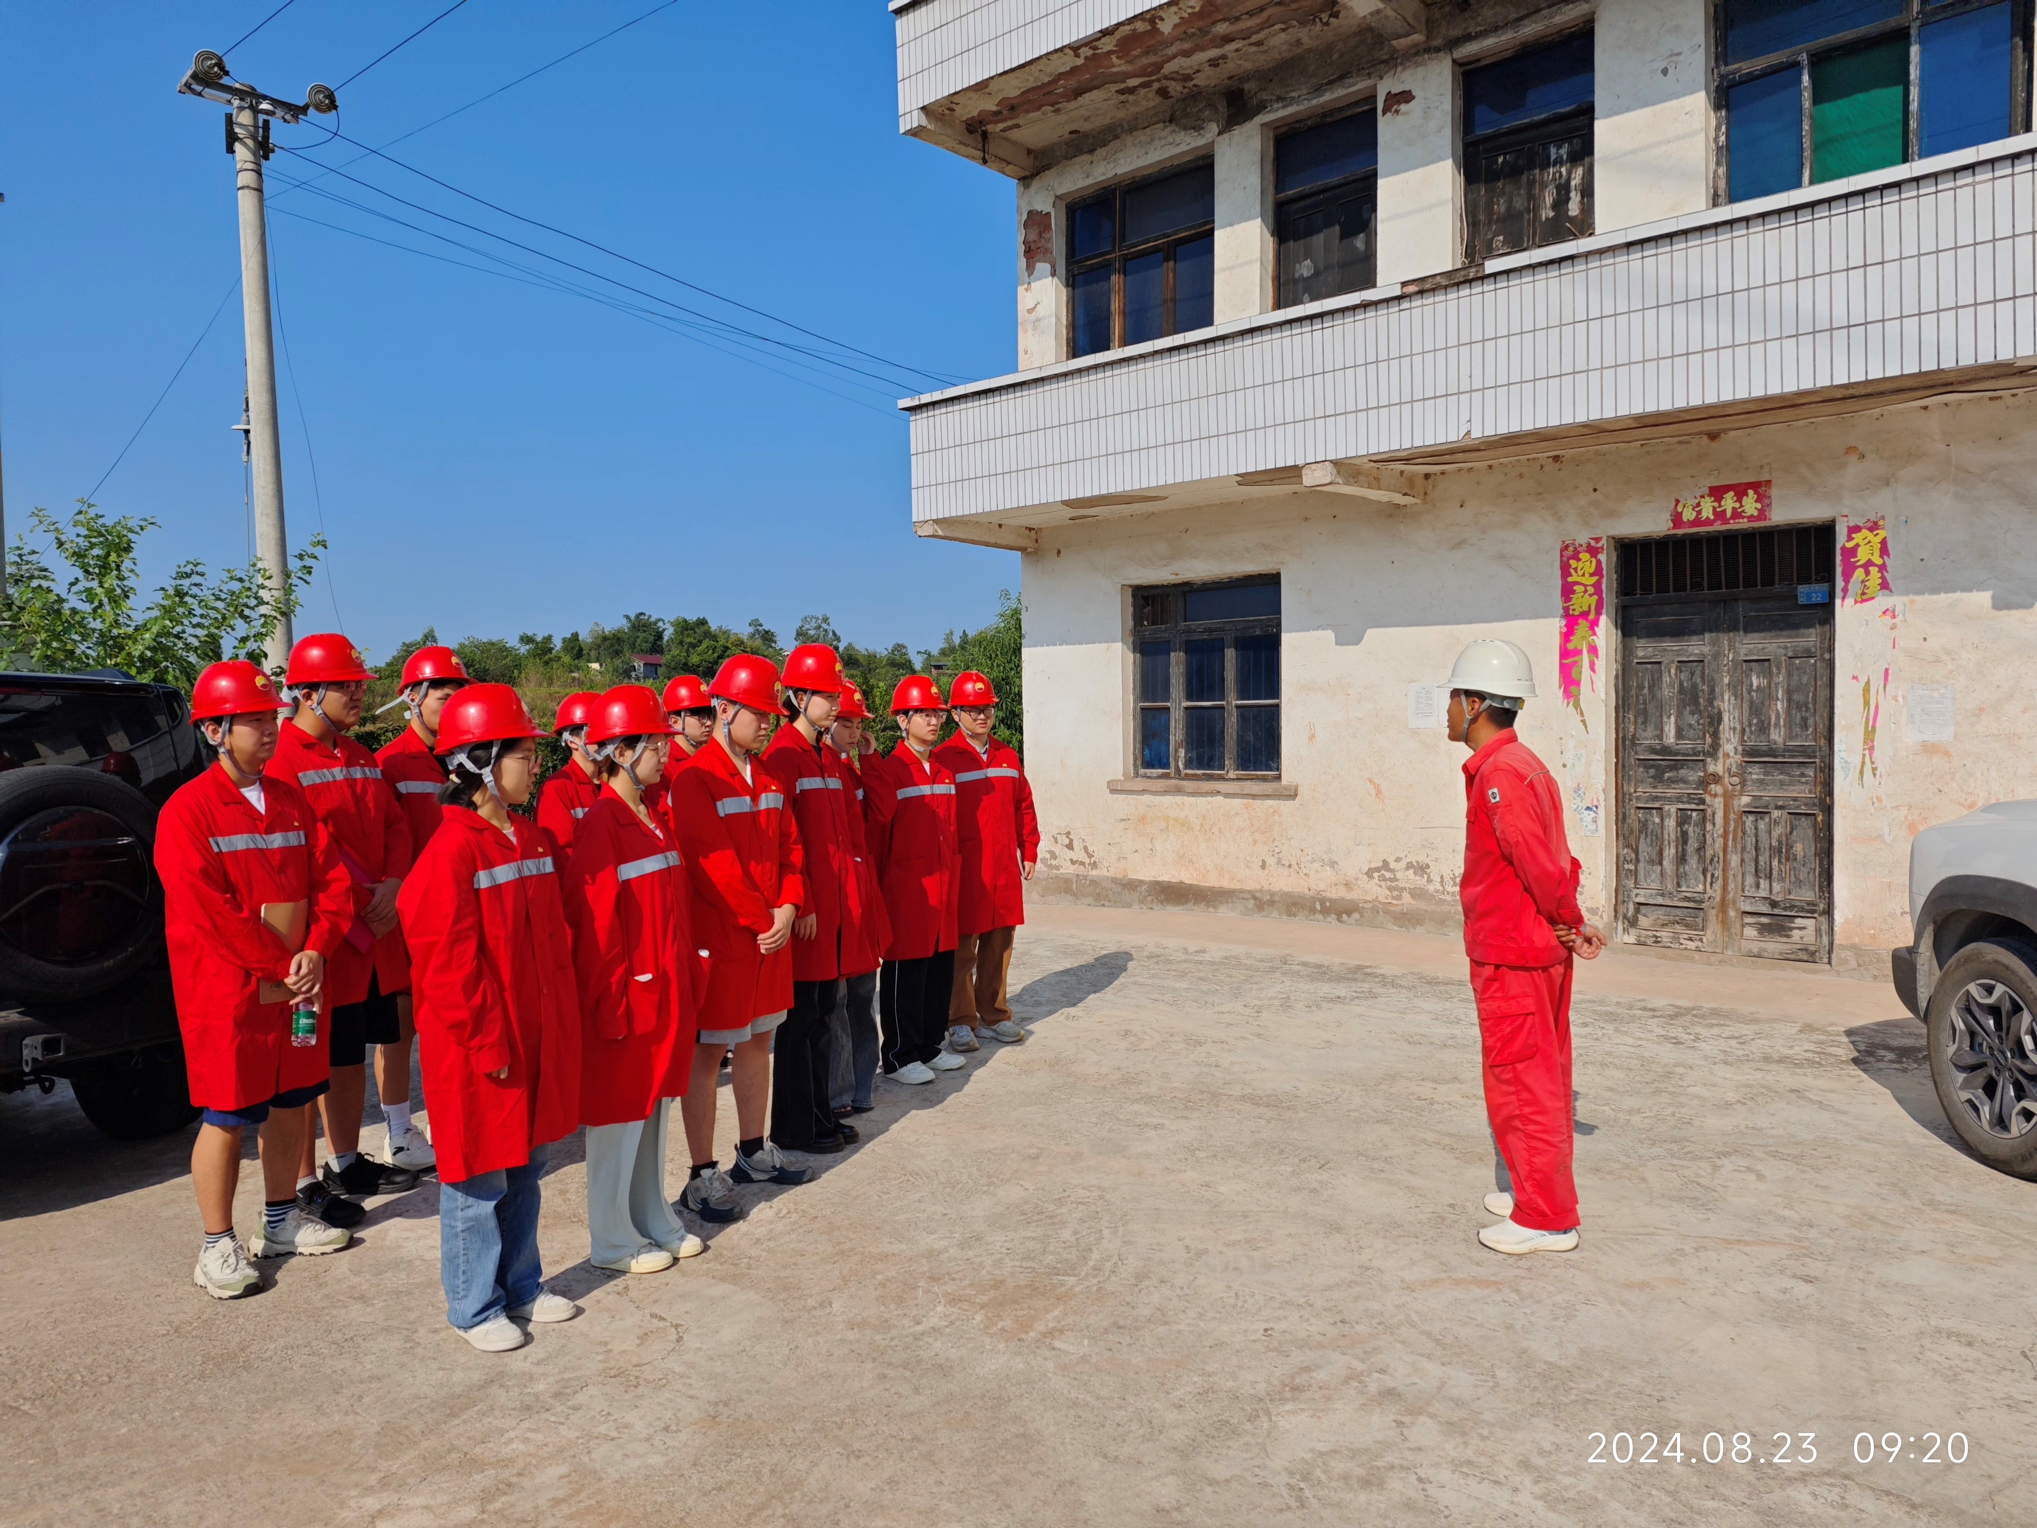
[[(1418, 507), (1293, 495), (1051, 532), (1025, 566), (1027, 693), (1051, 697), (1027, 717), (1043, 866), (1452, 917), (1465, 752), (1408, 727), (1408, 683), (1442, 680), (1475, 636), (1505, 636), (1554, 697), (1560, 542), (1658, 534), (1678, 495), (1772, 479), (1778, 522), (1888, 515), (1894, 593), (1837, 611), (1835, 941), (1905, 943), (1911, 833), (2037, 795), (2033, 438), (2037, 395), (2021, 393), (1465, 469)], [(1281, 572), (1283, 780), (1298, 797), (1108, 793), (1131, 772), (1124, 587), (1257, 570)], [(1544, 699), (1522, 717), (1564, 782), (1599, 915), (1615, 874), (1613, 646), (1607, 621), (1577, 713)], [(1907, 742), (1909, 685), (1956, 687), (1953, 744)]]

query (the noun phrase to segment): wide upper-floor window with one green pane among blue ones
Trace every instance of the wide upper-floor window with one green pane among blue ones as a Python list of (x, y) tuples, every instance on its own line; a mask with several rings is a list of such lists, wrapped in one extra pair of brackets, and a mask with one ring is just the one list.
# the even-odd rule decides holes
[(2029, 128), (2031, 0), (1719, 0), (1715, 198)]

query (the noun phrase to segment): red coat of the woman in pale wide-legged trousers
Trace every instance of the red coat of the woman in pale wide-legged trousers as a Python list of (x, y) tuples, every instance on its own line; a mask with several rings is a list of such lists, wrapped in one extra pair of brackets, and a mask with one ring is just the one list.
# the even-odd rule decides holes
[(684, 860), (613, 790), (581, 819), (566, 913), (581, 976), (581, 1123), (650, 1118), (693, 1078), (705, 970)]

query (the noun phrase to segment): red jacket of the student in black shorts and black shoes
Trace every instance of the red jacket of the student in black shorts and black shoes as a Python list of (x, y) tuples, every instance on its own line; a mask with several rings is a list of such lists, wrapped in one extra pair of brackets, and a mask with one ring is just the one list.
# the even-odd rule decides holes
[(275, 758), (265, 780), (283, 778), (312, 803), (318, 821), (332, 829), (332, 841), (354, 888), (354, 925), (328, 962), (326, 988), (332, 1006), (361, 1002), (369, 994), (369, 974), (381, 976), (383, 994), (409, 990), (409, 951), (403, 931), (389, 929), (379, 939), (361, 921), (373, 888), (409, 870), (409, 823), (395, 790), (383, 778), (375, 756), (352, 738), (318, 742), (295, 721), (277, 729)]

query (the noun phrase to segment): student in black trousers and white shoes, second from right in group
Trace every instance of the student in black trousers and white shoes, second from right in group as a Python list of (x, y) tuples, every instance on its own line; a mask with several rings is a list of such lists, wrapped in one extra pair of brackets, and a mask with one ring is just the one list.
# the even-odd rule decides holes
[(878, 976), (882, 1061), (894, 1082), (933, 1082), (966, 1061), (943, 1051), (955, 984), (955, 909), (961, 852), (955, 841), (955, 774), (933, 756), (947, 707), (941, 687), (906, 674), (892, 691), (904, 738), (886, 760), (870, 760), (864, 782), (878, 801), (878, 876), (890, 945)]

